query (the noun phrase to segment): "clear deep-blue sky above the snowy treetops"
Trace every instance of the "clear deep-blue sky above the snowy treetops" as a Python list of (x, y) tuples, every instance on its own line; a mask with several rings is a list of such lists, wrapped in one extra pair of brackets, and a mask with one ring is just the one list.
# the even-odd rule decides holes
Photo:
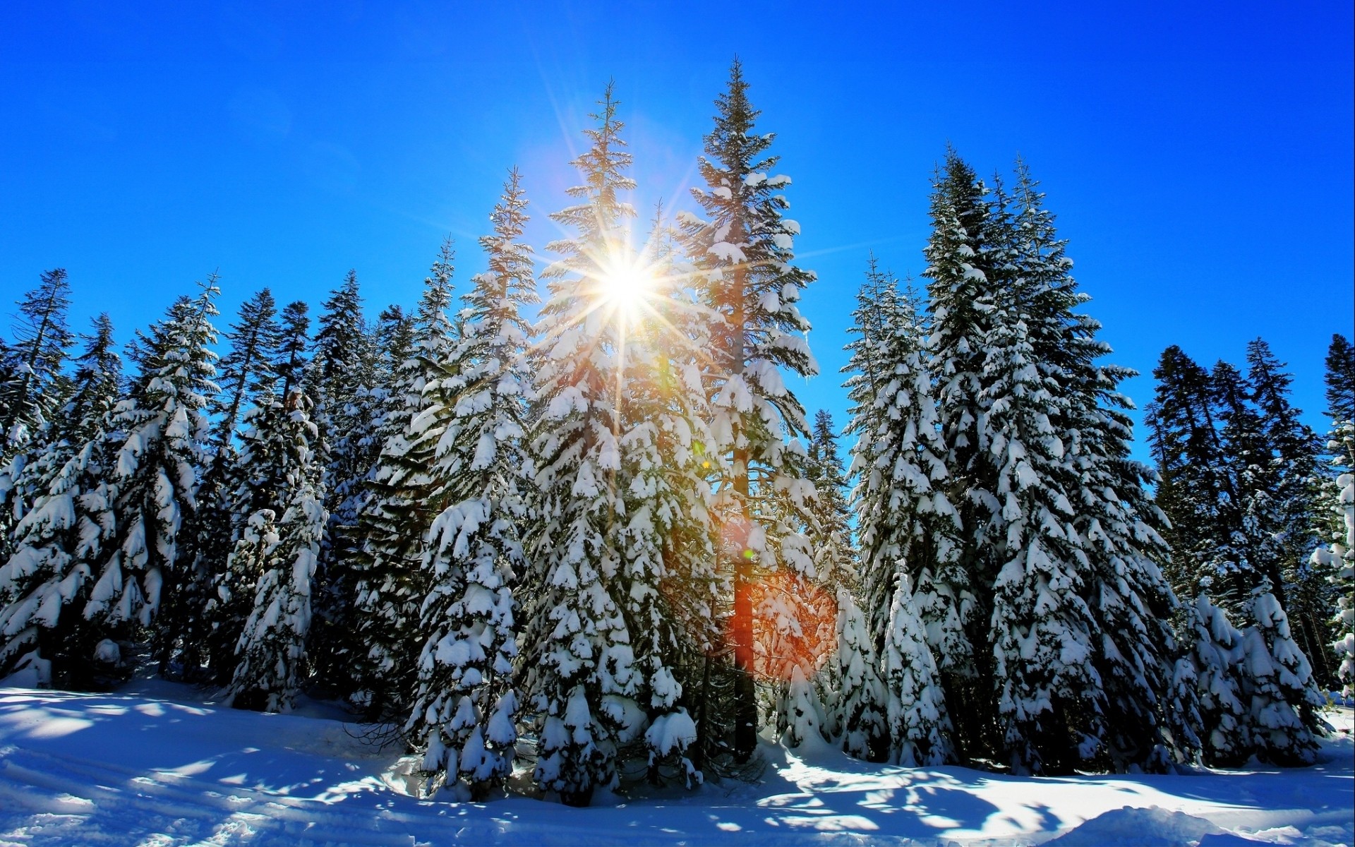
[[(686, 203), (737, 53), (820, 275), (810, 411), (843, 423), (867, 252), (923, 270), (950, 142), (980, 173), (1030, 163), (1111, 360), (1241, 362), (1264, 336), (1325, 428), (1322, 356), (1355, 310), (1348, 0), (477, 5), (4, 4), (0, 301), (62, 266), (76, 325), (107, 310), (119, 340), (215, 268), (222, 325), (262, 286), (317, 306), (350, 267), (371, 314), (412, 304), (447, 233), (459, 281), (481, 270), (509, 165), (533, 243), (554, 236), (608, 77), (637, 203)], [(1144, 405), (1152, 379), (1126, 389)]]

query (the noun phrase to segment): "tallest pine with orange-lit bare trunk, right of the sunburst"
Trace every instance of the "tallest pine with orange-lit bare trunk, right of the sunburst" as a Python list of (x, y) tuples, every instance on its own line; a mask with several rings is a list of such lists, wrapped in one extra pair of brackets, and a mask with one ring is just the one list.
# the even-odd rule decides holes
[[(705, 382), (713, 409), (711, 453), (726, 478), (717, 520), (728, 542), (722, 556), (733, 575), (730, 642), (737, 668), (734, 752), (747, 760), (756, 747), (753, 687), (753, 581), (762, 566), (791, 566), (772, 510), (764, 504), (779, 487), (802, 480), (805, 411), (786, 386), (783, 369), (808, 377), (818, 371), (809, 352), (809, 321), (798, 306), (814, 275), (795, 264), (799, 224), (785, 217), (785, 175), (771, 173), (772, 133), (755, 133), (760, 114), (748, 102), (743, 66), (734, 60), (726, 91), (715, 100), (715, 126), (706, 136), (692, 188), (705, 220), (680, 215), (692, 281), (722, 318), (713, 328)], [(757, 546), (752, 546), (756, 543)]]

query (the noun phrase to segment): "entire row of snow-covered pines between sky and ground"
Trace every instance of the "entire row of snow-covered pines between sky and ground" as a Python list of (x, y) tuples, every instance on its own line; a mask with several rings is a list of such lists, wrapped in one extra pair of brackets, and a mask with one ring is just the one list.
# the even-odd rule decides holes
[(617, 106), (556, 259), (511, 171), (459, 304), (449, 240), (374, 323), (350, 271), (314, 328), (264, 289), (218, 333), (211, 278), (72, 359), (45, 272), (0, 348), (0, 678), (145, 655), (237, 707), (343, 698), (476, 798), (526, 732), (573, 805), (744, 772), (763, 726), (1034, 774), (1313, 760), (1320, 686), (1355, 675), (1344, 336), (1327, 442), (1264, 342), (1245, 375), (1172, 347), (1135, 462), (1133, 371), (1096, 363), (1038, 183), (948, 150), (925, 291), (871, 257), (858, 294), (843, 459), (787, 385), (814, 274), (741, 66), (694, 209), (638, 251)]

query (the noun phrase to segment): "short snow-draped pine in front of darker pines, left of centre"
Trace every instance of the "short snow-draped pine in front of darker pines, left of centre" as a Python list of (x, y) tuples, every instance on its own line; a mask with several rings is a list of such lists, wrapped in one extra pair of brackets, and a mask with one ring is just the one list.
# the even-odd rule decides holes
[[(276, 523), (272, 510), (256, 511), (247, 529), (253, 530), (257, 541), (245, 535), (236, 548), (237, 556), (251, 560), (241, 565), (263, 571), (236, 645), (237, 664), (226, 691), (237, 709), (287, 711), (306, 679), (312, 581), (328, 519), (320, 468), (310, 449), (317, 431), (309, 405), (299, 390), (285, 402), (270, 402), (255, 419), (247, 446), (248, 459), (267, 462), (282, 482), (268, 493), (282, 500), (286, 511)], [(240, 590), (247, 587), (241, 584)]]

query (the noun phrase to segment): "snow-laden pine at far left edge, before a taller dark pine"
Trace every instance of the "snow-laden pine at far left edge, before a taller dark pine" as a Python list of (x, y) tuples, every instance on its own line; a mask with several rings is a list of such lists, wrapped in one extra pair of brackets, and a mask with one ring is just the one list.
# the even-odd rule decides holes
[(93, 683), (102, 634), (83, 617), (92, 575), (76, 562), (98, 558), (112, 534), (103, 427), (122, 363), (108, 316), (96, 317), (93, 328), (76, 359), (70, 398), (53, 420), (57, 432), (18, 480), (33, 508), (0, 566), (0, 676), (33, 663), (43, 669), (39, 682), (57, 687)]

